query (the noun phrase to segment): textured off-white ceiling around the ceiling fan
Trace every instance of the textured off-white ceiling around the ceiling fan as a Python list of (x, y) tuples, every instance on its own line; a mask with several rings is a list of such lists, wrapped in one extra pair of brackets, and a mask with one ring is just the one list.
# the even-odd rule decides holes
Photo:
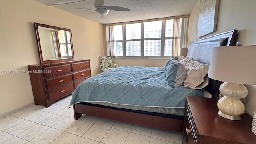
[[(59, 2), (72, 2), (80, 0), (37, 0), (44, 4)], [(105, 0), (105, 6), (121, 6), (130, 9), (130, 12), (110, 10), (107, 16), (100, 18), (95, 11), (77, 10), (72, 8), (94, 9), (94, 0), (85, 0), (71, 4), (52, 5), (55, 8), (70, 12), (77, 16), (98, 22), (112, 24), (118, 22), (131, 22), (153, 18), (165, 18), (190, 14), (197, 0)]]

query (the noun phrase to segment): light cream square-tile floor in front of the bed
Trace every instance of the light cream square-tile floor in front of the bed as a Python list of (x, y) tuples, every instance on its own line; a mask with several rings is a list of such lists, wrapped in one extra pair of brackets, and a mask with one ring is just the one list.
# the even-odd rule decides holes
[(34, 105), (0, 119), (1, 144), (182, 144), (182, 133), (83, 114), (71, 96), (48, 108)]

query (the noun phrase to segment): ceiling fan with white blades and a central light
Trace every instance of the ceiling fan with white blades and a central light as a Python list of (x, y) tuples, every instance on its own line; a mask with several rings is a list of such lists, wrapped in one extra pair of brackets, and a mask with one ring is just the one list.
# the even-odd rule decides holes
[[(94, 2), (94, 7), (96, 8), (96, 11), (99, 14), (101, 14), (100, 18), (104, 18), (104, 16), (106, 16), (108, 14), (108, 12), (110, 10), (115, 10), (115, 11), (130, 11), (130, 9), (128, 8), (123, 8), (120, 6), (104, 6), (104, 0), (95, 0)], [(78, 10), (91, 10), (91, 9), (86, 9), (86, 8), (74, 8), (74, 9), (78, 9)]]

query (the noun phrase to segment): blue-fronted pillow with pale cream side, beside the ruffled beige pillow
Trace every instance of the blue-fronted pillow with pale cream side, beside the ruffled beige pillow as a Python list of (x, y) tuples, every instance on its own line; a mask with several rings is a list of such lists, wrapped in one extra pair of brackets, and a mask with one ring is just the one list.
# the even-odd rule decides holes
[(172, 87), (181, 86), (186, 78), (186, 68), (183, 64), (173, 59), (165, 68), (167, 83)]

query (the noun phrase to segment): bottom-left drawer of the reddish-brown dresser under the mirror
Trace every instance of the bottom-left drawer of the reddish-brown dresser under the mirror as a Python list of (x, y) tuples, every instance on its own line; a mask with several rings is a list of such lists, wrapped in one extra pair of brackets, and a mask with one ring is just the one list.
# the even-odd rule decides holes
[(49, 101), (64, 96), (66, 94), (72, 93), (74, 91), (73, 83), (68, 84), (66, 86), (62, 86), (60, 88), (56, 88), (54, 90), (48, 91)]

